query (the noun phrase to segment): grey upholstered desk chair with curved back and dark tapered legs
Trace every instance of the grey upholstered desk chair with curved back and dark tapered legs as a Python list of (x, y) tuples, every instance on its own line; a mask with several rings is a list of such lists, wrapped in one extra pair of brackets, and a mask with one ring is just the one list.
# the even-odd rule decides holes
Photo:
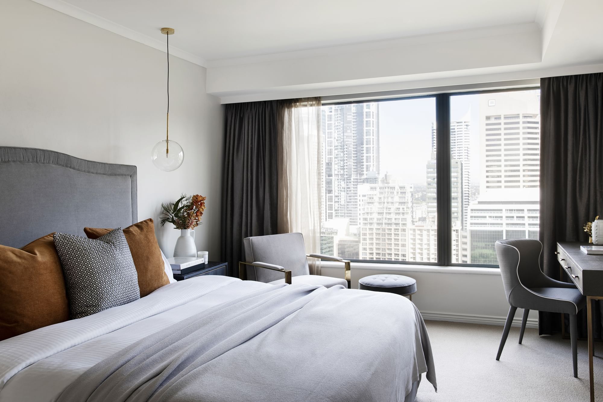
[(511, 305), (496, 360), (500, 359), (517, 308), (523, 308), (519, 343), (522, 343), (529, 310), (566, 313), (569, 314), (572, 339), (573, 376), (578, 377), (576, 314), (586, 305), (586, 299), (573, 283), (556, 281), (540, 270), (540, 254), (542, 252), (540, 241), (527, 238), (499, 240), (495, 247), (502, 283), (507, 294), (507, 301)]

